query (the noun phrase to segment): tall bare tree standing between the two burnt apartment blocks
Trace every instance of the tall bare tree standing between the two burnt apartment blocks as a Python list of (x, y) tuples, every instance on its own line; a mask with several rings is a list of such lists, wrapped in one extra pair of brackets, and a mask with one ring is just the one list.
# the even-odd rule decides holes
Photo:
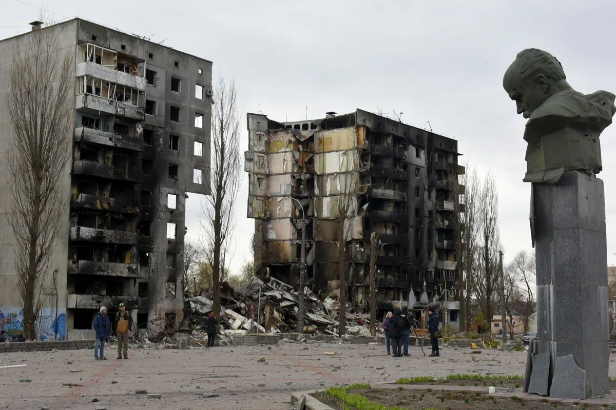
[(201, 200), (199, 224), (212, 270), (213, 310), (219, 312), (221, 282), (233, 246), (235, 200), (241, 185), (240, 112), (235, 81), (227, 85), (220, 77), (214, 95), (217, 101), (212, 112), (210, 194)]

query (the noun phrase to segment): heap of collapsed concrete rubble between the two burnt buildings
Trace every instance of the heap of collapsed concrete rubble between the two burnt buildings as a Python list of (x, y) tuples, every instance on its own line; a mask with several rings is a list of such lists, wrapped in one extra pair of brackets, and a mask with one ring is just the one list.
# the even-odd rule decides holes
[[(252, 277), (237, 290), (222, 286), (222, 334), (293, 333), (297, 330), (299, 293), (293, 287), (275, 278), (264, 283)], [(205, 333), (208, 315), (213, 309), (213, 295), (190, 295), (185, 299), (185, 328), (193, 336)], [(340, 302), (334, 295), (320, 301), (308, 288), (304, 288), (304, 333), (338, 336)], [(370, 336), (370, 315), (352, 312), (347, 304), (346, 334)], [(377, 324), (376, 331), (382, 333)]]

